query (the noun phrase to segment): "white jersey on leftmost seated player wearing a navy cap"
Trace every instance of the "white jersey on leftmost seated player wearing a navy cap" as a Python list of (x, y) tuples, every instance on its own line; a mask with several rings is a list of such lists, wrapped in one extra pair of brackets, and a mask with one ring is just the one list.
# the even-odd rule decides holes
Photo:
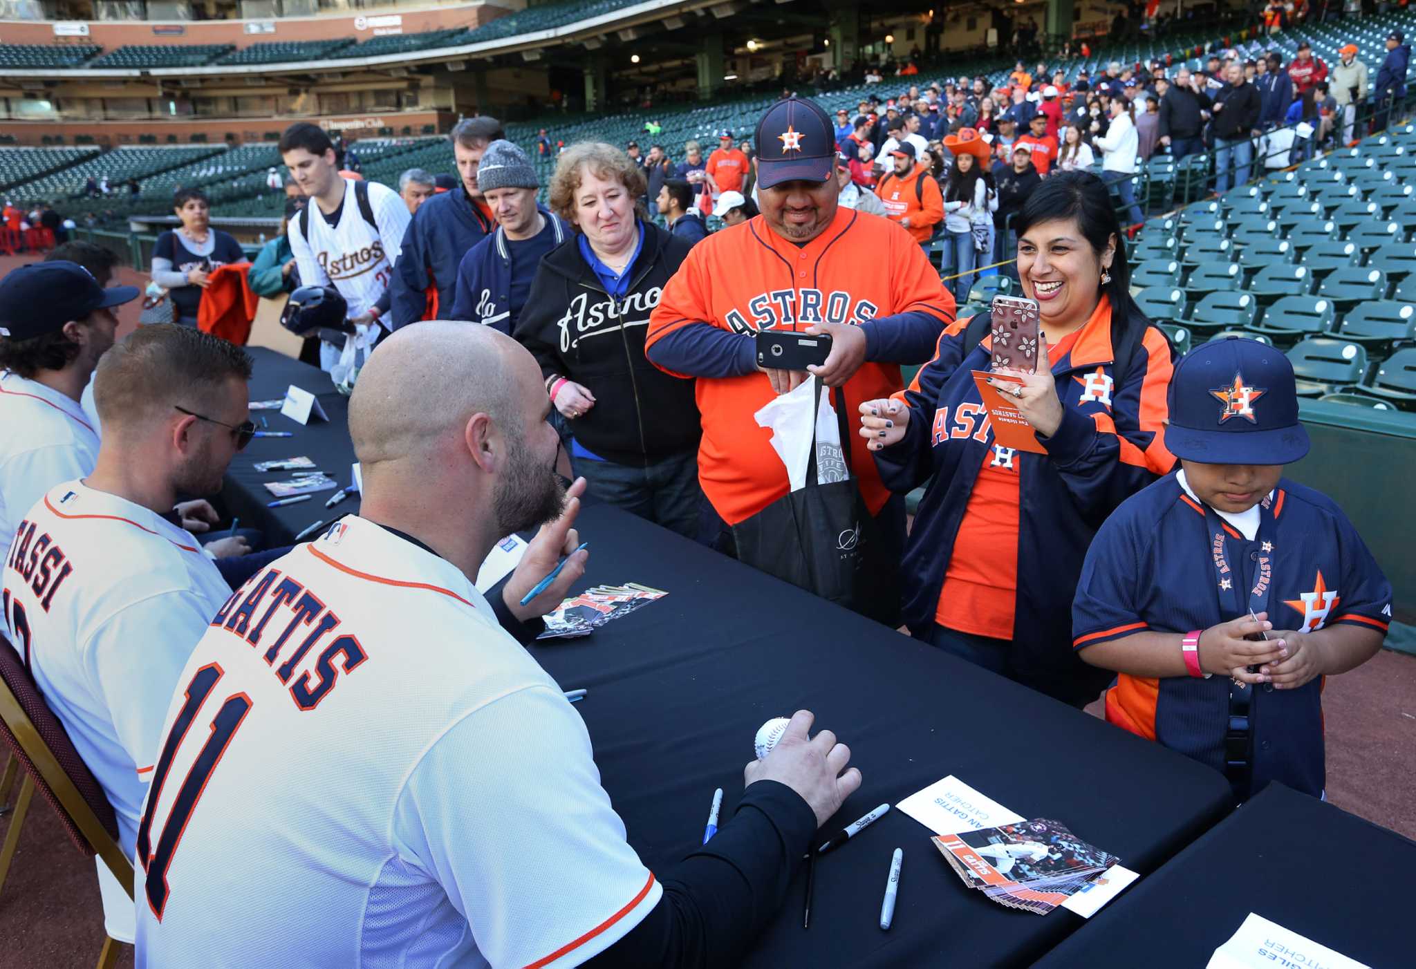
[(98, 426), (78, 400), (18, 373), (0, 373), (0, 549), (54, 485), (98, 463)]

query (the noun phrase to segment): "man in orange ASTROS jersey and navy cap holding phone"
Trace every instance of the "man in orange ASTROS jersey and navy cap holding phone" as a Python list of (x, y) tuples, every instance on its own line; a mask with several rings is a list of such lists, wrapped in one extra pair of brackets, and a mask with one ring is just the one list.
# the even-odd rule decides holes
[[(789, 491), (772, 431), (753, 414), (810, 375), (838, 388), (834, 406), (854, 414), (901, 389), (899, 365), (929, 359), (954, 318), (953, 297), (908, 232), (837, 205), (834, 143), (814, 102), (769, 108), (756, 132), (762, 214), (694, 246), (649, 320), (650, 362), (698, 379), (708, 504), (700, 538), (724, 552), (735, 553), (731, 526)], [(831, 354), (810, 373), (759, 369), (755, 334), (772, 328), (828, 334)], [(881, 485), (865, 441), (850, 437), (865, 505), (903, 542), (903, 505)]]

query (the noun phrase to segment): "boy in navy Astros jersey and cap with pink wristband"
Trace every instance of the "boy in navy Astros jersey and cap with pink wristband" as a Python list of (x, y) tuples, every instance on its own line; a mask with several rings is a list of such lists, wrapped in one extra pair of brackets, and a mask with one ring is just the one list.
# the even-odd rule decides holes
[(1073, 645), (1117, 672), (1106, 719), (1223, 771), (1320, 796), (1323, 678), (1366, 662), (1392, 587), (1330, 498), (1283, 478), (1308, 451), (1293, 366), (1252, 340), (1191, 351), (1170, 385), (1181, 468), (1086, 555)]

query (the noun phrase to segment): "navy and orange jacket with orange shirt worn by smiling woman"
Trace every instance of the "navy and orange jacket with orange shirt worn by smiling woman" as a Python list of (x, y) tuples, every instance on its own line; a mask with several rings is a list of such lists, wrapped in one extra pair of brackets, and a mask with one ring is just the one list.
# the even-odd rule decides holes
[[(895, 395), (910, 413), (905, 439), (875, 453), (875, 464), (891, 491), (927, 482), (903, 559), (909, 628), (961, 628), (969, 610), (946, 600), (974, 590), (991, 618), (963, 631), (1012, 638), (1046, 675), (1090, 676), (1056, 648), (1069, 638), (1086, 546), (1121, 501), (1174, 464), (1164, 444), (1170, 345), (1148, 327), (1117, 382), (1110, 317), (1103, 298), (1080, 330), (1049, 347), (1063, 417), (1039, 441), (1045, 454), (997, 447), (971, 375), (988, 369), (991, 341), (966, 347), (969, 320), (943, 332), (935, 358)], [(976, 501), (980, 488), (987, 494)], [(1015, 509), (1015, 519), (991, 516), (994, 504)]]

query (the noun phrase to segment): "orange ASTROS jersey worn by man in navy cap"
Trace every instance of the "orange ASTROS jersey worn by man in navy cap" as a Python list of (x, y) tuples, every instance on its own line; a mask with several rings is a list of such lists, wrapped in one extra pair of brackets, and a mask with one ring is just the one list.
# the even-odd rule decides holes
[[(654, 349), (685, 327), (707, 323), (755, 334), (804, 330), (823, 321), (861, 325), (868, 362), (835, 395), (838, 406), (844, 398), (847, 422), (855, 427), (862, 402), (888, 398), (901, 388), (899, 362), (910, 361), (901, 351), (906, 341), (899, 334), (925, 334), (923, 340), (912, 337), (920, 347), (913, 359), (922, 361), (953, 317), (953, 297), (906, 233), (843, 208), (821, 235), (800, 248), (776, 235), (760, 216), (694, 246), (664, 287), (644, 347), (656, 366), (687, 378), (695, 375), (666, 365)], [(735, 525), (787, 494), (787, 472), (772, 448), (772, 431), (753, 417), (776, 395), (758, 372), (700, 378), (695, 393), (704, 429), (698, 478), (718, 515)], [(878, 512), (889, 495), (858, 434), (851, 436), (851, 463), (867, 504)]]

